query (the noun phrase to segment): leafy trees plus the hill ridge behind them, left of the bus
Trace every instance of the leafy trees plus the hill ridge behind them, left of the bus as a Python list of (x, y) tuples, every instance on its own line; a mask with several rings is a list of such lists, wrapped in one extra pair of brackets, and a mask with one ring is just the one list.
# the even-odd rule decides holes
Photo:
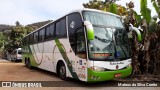
[(37, 28), (51, 22), (51, 20), (29, 24), (27, 26), (21, 25), (18, 21), (15, 26), (0, 25), (0, 49), (12, 50), (22, 46), (22, 38), (36, 30)]

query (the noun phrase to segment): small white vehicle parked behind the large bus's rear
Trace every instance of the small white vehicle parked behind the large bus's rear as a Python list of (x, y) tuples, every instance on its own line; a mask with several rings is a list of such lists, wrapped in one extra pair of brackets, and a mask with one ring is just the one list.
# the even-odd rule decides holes
[(10, 58), (11, 61), (22, 61), (22, 48), (14, 49)]

